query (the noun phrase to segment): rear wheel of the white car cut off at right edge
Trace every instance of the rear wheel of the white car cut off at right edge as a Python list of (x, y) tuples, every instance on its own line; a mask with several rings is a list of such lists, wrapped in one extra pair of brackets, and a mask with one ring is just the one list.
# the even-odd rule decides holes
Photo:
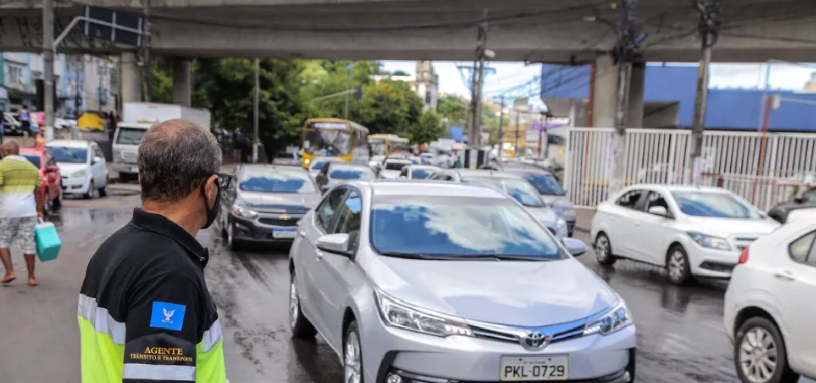
[(769, 319), (756, 316), (746, 320), (735, 339), (734, 364), (743, 383), (796, 383), (799, 380), (799, 375), (787, 363), (782, 333)]

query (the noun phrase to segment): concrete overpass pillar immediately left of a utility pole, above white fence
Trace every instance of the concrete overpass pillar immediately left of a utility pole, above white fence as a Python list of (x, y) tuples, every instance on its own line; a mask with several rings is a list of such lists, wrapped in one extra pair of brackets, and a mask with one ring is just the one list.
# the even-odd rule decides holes
[(618, 86), (618, 67), (612, 63), (612, 56), (602, 55), (595, 61), (595, 78), (592, 89), (592, 127), (611, 128), (614, 126), (615, 99)]

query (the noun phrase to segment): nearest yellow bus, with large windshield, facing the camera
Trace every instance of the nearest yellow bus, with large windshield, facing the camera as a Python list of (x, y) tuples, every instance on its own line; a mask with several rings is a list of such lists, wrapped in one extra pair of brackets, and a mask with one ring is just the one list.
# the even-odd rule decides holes
[(346, 162), (368, 163), (368, 129), (340, 118), (309, 118), (304, 124), (303, 165), (315, 157), (335, 157)]

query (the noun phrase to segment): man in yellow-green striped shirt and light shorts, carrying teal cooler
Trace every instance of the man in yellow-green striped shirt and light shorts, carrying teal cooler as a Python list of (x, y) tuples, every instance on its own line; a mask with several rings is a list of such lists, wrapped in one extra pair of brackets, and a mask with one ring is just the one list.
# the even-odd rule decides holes
[(20, 145), (14, 141), (2, 144), (0, 161), (0, 259), (6, 268), (0, 283), (16, 280), (11, 265), (11, 243), (20, 244), (29, 268), (29, 286), (36, 286), (34, 276), (34, 227), (42, 219), (42, 178), (31, 162), (20, 156)]

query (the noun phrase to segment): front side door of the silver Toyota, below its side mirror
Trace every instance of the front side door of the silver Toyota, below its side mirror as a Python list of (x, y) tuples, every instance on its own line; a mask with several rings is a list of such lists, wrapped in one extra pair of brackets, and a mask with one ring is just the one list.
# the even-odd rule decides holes
[[(362, 215), (362, 199), (360, 192), (349, 187), (345, 200), (335, 211), (335, 220), (332, 228), (327, 231), (331, 234), (346, 233), (349, 235), (349, 250), (357, 253), (357, 246), (360, 240), (360, 227)], [(318, 252), (320, 250), (317, 250)], [(322, 252), (322, 258), (317, 258), (317, 267), (314, 276), (320, 281), (322, 304), (322, 317), (328, 324), (331, 341), (335, 346), (339, 346), (342, 339), (342, 322), (346, 297), (351, 289), (349, 278), (354, 273), (354, 261), (344, 255)]]

